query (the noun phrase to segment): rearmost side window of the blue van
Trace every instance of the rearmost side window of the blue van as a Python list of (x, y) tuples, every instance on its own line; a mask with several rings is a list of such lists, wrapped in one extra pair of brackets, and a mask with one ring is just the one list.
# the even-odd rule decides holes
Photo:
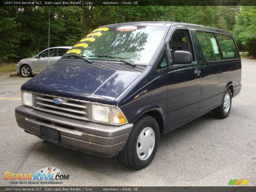
[(237, 48), (232, 37), (228, 35), (216, 34), (223, 59), (238, 58)]

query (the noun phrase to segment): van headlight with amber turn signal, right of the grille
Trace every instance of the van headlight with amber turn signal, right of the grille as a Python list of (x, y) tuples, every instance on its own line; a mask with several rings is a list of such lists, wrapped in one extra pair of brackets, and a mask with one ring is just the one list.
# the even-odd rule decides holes
[(96, 104), (91, 105), (91, 120), (109, 123), (111, 125), (121, 125), (126, 123), (126, 118), (118, 107)]

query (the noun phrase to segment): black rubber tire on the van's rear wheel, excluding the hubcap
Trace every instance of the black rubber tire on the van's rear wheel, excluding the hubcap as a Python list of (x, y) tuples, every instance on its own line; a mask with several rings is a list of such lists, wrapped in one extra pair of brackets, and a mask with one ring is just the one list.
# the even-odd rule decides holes
[[(225, 101), (226, 94), (229, 94), (230, 105), (229, 105), (228, 111), (225, 112), (226, 108), (225, 108), (224, 104), (226, 102)], [(231, 94), (231, 90), (229, 88), (227, 88), (226, 93), (224, 94), (221, 105), (213, 110), (214, 116), (219, 118), (219, 119), (227, 118), (229, 116), (229, 113), (230, 113), (230, 110), (231, 110), (231, 104), (232, 104), (232, 94)]]

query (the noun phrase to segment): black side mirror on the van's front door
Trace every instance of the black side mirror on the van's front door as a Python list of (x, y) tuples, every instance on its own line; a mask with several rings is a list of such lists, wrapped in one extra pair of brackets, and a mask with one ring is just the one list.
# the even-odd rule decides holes
[(192, 54), (189, 51), (174, 51), (173, 65), (175, 64), (190, 64), (193, 61)]

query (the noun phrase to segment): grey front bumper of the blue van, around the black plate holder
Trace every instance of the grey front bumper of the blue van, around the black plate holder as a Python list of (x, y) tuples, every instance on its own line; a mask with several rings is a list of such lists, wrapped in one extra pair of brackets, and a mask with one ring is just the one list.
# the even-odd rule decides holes
[(18, 126), (40, 137), (40, 125), (57, 129), (59, 142), (55, 145), (94, 155), (113, 157), (125, 146), (133, 123), (121, 126), (103, 125), (38, 111), (26, 106), (15, 109)]

